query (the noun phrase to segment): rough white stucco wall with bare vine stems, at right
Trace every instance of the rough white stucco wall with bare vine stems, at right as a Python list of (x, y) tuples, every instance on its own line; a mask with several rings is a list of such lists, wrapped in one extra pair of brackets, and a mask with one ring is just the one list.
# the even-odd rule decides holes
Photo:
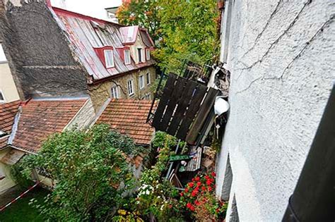
[[(332, 0), (229, 5), (230, 38), (228, 47), (222, 42), (221, 58), (227, 52), (230, 114), (216, 194), (223, 197), (223, 187), (233, 180), (226, 221), (236, 211), (240, 221), (281, 221), (334, 84), (335, 5)], [(233, 177), (226, 180), (227, 166)]]

